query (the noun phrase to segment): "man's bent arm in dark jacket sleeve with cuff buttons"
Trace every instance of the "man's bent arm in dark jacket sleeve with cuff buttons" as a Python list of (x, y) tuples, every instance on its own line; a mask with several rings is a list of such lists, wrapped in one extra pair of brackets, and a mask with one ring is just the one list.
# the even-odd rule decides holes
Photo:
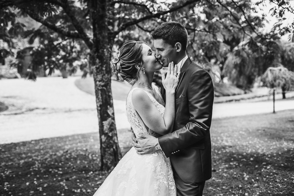
[(158, 138), (159, 145), (167, 157), (171, 156), (172, 152), (202, 140), (210, 129), (214, 99), (210, 75), (202, 69), (195, 71), (189, 79), (188, 89), (189, 123)]

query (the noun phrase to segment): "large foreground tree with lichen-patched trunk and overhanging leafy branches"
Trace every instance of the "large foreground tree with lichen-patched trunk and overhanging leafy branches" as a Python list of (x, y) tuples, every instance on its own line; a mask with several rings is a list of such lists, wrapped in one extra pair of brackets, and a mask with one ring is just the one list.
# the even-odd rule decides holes
[[(271, 1), (279, 4), (277, 7), (281, 9), (276, 10), (279, 17), (284, 16), (283, 10), (291, 8), (288, 0)], [(89, 71), (92, 72), (95, 83), (101, 169), (104, 170), (112, 168), (121, 158), (114, 119), (109, 61), (113, 49), (118, 48), (116, 44), (123, 43), (124, 37), (128, 37), (126, 32), (129, 35), (134, 35), (134, 32), (140, 30), (148, 35), (156, 25), (163, 21), (179, 21), (189, 31), (190, 40), (193, 42), (191, 45), (194, 45), (194, 49), (190, 48), (190, 50), (198, 50), (200, 55), (203, 56), (204, 54), (205, 58), (208, 59), (214, 55), (213, 58), (220, 61), (219, 58), (221, 59), (222, 53), (219, 49), (213, 49), (215, 52), (211, 53), (212, 45), (223, 46), (223, 43), (230, 41), (232, 43), (228, 45), (233, 48), (233, 46), (239, 44), (242, 35), (246, 34), (251, 37), (251, 33), (259, 33), (256, 31), (256, 27), (259, 27), (258, 24), (263, 18), (260, 19), (254, 17), (254, 14), (251, 15), (250, 8), (250, 1), (236, 2), (234, 0), (180, 0), (170, 3), (148, 0), (0, 1), (1, 18), (8, 18), (14, 26), (17, 25), (12, 21), (16, 21), (17, 16), (28, 16), (41, 24), (38, 29), (26, 30), (22, 36), (32, 40), (38, 37), (44, 40), (44, 44), (47, 43), (46, 40), (50, 40), (49, 37), (53, 36), (54, 39), (50, 42), (52, 47), (55, 47), (58, 43), (64, 43), (66, 40), (84, 46), (83, 48), (87, 51), (85, 67), (88, 66), (87, 69), (84, 69), (84, 76)], [(219, 11), (212, 14), (209, 9)], [(203, 14), (205, 17), (200, 17)], [(227, 22), (228, 20), (229, 22)], [(6, 19), (2, 20), (1, 25), (5, 21)], [(5, 28), (2, 29), (4, 29), (5, 34), (11, 37), (12, 34), (6, 31), (10, 27), (9, 22), (5, 25)], [(2, 25), (2, 27), (4, 26)], [(290, 30), (288, 28), (285, 32), (290, 32)], [(219, 31), (221, 31), (221, 34), (218, 33)], [(236, 36), (237, 32), (243, 33)], [(200, 34), (202, 39), (206, 39), (205, 36), (207, 36), (207, 42), (200, 46), (204, 47), (205, 51), (200, 51), (200, 48), (195, 49), (196, 45), (200, 45), (195, 37)], [(44, 48), (45, 50), (47, 49)], [(65, 49), (60, 48), (60, 50)], [(49, 60), (53, 61), (53, 58), (56, 60), (59, 54), (46, 55), (46, 62), (42, 65), (50, 65)], [(209, 61), (213, 63), (212, 58)], [(37, 65), (37, 63), (32, 65)], [(32, 66), (31, 73), (28, 74), (29, 79), (35, 77), (35, 71), (36, 66)]]

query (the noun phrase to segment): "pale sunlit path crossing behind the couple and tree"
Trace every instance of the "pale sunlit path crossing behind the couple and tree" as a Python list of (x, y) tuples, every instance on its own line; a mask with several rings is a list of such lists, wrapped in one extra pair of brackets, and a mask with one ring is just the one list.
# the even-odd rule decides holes
[[(0, 113), (0, 144), (98, 132), (95, 96), (77, 88), (75, 82), (80, 78), (0, 80), (0, 102), (9, 107)], [(121, 84), (111, 84), (113, 89), (121, 89)], [(125, 88), (123, 91), (129, 87)], [(121, 94), (113, 94), (117, 98), (114, 100), (117, 129), (130, 128), (125, 100)], [(272, 101), (214, 104), (213, 118), (270, 113), (272, 108)], [(287, 109), (294, 109), (293, 99), (276, 102), (276, 111)]]

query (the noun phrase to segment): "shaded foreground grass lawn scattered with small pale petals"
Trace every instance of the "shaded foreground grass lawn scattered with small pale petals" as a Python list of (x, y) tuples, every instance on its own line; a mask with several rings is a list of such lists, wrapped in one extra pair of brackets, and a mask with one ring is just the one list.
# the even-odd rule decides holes
[[(294, 111), (214, 119), (213, 177), (205, 196), (294, 195)], [(119, 130), (123, 154), (130, 131)], [(98, 133), (0, 145), (0, 195), (92, 196), (99, 171)]]

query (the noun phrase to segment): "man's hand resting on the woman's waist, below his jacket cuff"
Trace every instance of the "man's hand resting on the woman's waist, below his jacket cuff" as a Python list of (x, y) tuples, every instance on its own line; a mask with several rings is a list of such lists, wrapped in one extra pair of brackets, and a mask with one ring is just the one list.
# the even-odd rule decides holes
[(134, 144), (138, 154), (150, 154), (160, 150), (157, 138), (148, 134), (140, 134), (138, 137), (139, 138), (136, 138), (138, 143)]

